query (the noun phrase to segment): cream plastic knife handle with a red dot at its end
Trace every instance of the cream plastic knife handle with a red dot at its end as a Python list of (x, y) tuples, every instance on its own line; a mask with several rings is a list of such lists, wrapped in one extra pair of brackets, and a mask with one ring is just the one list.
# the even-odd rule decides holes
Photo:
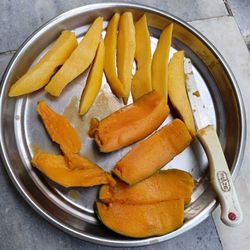
[(198, 130), (197, 137), (208, 157), (210, 182), (220, 201), (221, 220), (228, 226), (237, 226), (241, 223), (243, 214), (214, 126)]

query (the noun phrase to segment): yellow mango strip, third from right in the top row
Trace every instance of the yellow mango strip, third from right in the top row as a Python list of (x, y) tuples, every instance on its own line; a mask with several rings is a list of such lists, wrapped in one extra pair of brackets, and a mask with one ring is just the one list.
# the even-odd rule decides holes
[(133, 100), (152, 91), (151, 85), (151, 45), (147, 18), (143, 15), (135, 24), (135, 60), (137, 70), (132, 80)]

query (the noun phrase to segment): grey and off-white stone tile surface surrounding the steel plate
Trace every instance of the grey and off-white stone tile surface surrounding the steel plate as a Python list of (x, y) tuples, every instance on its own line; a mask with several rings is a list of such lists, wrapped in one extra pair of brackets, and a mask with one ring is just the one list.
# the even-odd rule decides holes
[[(232, 10), (226, 8), (222, 0), (136, 0), (133, 2), (157, 6), (157, 8), (161, 10), (170, 12), (185, 21), (188, 21), (191, 25), (204, 33), (225, 57), (232, 68), (236, 79), (241, 83), (240, 88), (241, 90), (244, 89), (243, 98), (245, 103), (247, 103), (246, 107), (248, 108), (250, 107), (248, 98), (250, 92), (247, 90), (249, 89), (247, 88), (247, 83), (250, 80), (250, 59), (247, 47), (239, 32), (235, 19), (230, 16), (231, 12), (235, 11), (238, 13), (238, 7), (235, 4), (235, 1), (236, 0), (230, 0), (230, 4), (234, 6), (234, 9)], [(30, 4), (30, 1), (28, 0), (1, 0), (0, 78), (15, 50), (40, 25), (64, 11), (93, 2), (103, 1), (34, 0), (32, 4)], [(247, 2), (247, 0), (243, 2)], [(250, 8), (249, 5), (247, 5), (247, 7)], [(245, 11), (245, 8), (243, 9)], [(221, 32), (219, 31), (222, 31), (225, 25), (228, 32), (221, 35)], [(248, 34), (250, 32), (248, 33), (246, 27), (247, 26), (243, 24), (240, 25), (244, 39), (248, 42)], [(230, 51), (232, 43), (237, 43), (237, 49)], [(235, 60), (235, 58), (237, 58), (237, 60)], [(249, 121), (249, 116), (247, 119)], [(247, 150), (249, 149), (250, 146), (248, 143)], [(250, 187), (248, 186), (249, 184), (246, 183), (247, 176), (249, 175), (247, 172), (248, 163), (250, 163), (249, 156), (244, 160), (242, 167), (243, 170), (240, 172), (240, 176), (237, 179), (237, 188), (240, 190), (244, 190), (244, 185), (247, 186), (247, 190), (250, 190)], [(0, 190), (0, 249), (114, 249), (76, 239), (60, 231), (41, 218), (17, 192), (1, 162)], [(240, 196), (240, 200), (247, 204), (247, 208), (250, 208), (250, 204), (244, 195)], [(250, 209), (245, 210), (243, 211), (246, 212), (246, 214), (249, 214), (248, 210)], [(248, 216), (248, 218), (249, 217), (250, 216)], [(167, 242), (138, 249), (216, 250), (222, 249), (223, 247), (224, 249), (234, 249), (232, 248), (233, 243), (230, 243), (230, 237), (235, 232), (238, 237), (241, 237), (243, 240), (243, 248), (241, 249), (247, 249), (245, 247), (250, 246), (250, 237), (246, 235), (248, 224), (249, 220), (245, 220), (243, 226), (237, 229), (238, 231), (236, 230), (232, 232), (232, 230), (224, 227), (220, 223), (219, 211), (215, 211), (213, 217), (208, 217), (197, 227), (181, 236)]]

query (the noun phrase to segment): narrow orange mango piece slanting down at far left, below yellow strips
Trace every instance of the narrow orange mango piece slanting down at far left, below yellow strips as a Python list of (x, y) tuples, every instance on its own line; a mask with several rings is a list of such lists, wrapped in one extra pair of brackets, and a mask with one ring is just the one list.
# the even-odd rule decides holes
[(52, 141), (59, 144), (64, 153), (80, 151), (80, 137), (65, 117), (53, 111), (44, 100), (37, 104), (37, 112)]

